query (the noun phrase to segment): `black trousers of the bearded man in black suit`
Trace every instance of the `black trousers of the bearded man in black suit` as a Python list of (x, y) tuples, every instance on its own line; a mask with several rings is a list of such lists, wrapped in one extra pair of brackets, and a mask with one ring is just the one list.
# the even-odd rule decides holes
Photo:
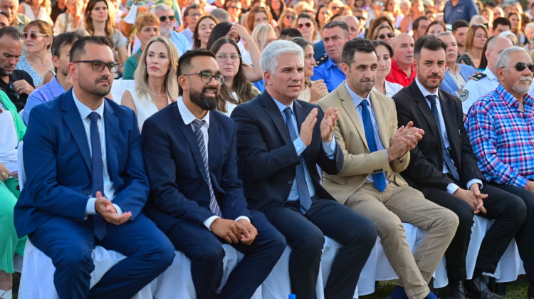
[[(473, 226), (473, 208), (461, 199), (441, 189), (424, 187), (421, 189), (426, 199), (454, 211), (460, 220), (456, 235), (445, 252), (447, 274), (450, 280), (466, 279), (466, 255), (471, 240)], [(478, 213), (486, 219), (495, 219), (486, 232), (478, 251), (475, 268), (479, 271), (493, 273), (504, 251), (512, 241), (525, 219), (525, 204), (514, 194), (486, 185), (481, 193), (488, 194), (483, 199), (487, 213)], [(534, 195), (534, 194), (533, 194)]]

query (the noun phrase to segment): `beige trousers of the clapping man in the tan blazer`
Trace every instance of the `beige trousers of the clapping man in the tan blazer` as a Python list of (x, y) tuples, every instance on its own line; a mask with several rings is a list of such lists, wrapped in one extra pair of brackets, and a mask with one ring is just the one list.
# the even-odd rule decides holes
[[(416, 189), (394, 183), (387, 184), (384, 192), (372, 183), (363, 184), (345, 205), (375, 223), (384, 253), (408, 298), (426, 297), (430, 278), (456, 234), (458, 216), (425, 199)], [(413, 254), (402, 222), (427, 231)]]

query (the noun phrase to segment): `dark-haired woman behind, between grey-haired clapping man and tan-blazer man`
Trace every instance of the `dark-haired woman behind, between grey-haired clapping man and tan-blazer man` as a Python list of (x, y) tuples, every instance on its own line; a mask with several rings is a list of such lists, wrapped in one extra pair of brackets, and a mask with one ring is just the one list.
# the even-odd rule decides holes
[(316, 103), (321, 98), (328, 95), (328, 89), (323, 79), (312, 81), (310, 77), (313, 76), (313, 68), (315, 66), (315, 59), (313, 58), (313, 43), (305, 38), (295, 37), (290, 41), (296, 43), (303, 48), (304, 51), (304, 83), (298, 100), (305, 100), (306, 102)]

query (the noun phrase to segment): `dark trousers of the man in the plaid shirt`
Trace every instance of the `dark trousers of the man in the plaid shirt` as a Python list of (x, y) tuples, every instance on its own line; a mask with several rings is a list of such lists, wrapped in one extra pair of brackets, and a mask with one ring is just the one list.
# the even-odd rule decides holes
[[(493, 183), (491, 183), (493, 184)], [(518, 244), (519, 256), (523, 260), (523, 266), (528, 280), (534, 280), (534, 192), (511, 185), (493, 184), (506, 192), (515, 194), (522, 199), (526, 206), (526, 218), (523, 225), (515, 234), (515, 242)]]

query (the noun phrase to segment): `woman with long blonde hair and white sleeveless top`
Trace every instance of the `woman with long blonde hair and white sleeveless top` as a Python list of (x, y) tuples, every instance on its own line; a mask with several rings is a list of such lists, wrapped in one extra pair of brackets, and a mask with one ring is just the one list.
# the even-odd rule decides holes
[(178, 51), (164, 36), (148, 41), (135, 70), (135, 88), (122, 95), (122, 105), (137, 114), (139, 130), (148, 117), (178, 98)]

